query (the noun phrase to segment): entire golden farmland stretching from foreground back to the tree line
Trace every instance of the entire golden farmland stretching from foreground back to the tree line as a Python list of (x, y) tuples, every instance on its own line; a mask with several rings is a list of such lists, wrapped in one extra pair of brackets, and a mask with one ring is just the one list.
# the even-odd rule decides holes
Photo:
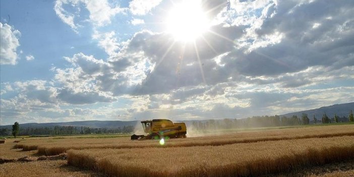
[[(68, 168), (76, 169), (73, 176), (87, 176), (88, 173), (109, 176), (255, 176), (293, 173), (335, 163), (344, 163), (347, 168), (317, 173), (345, 176), (354, 172), (354, 166), (346, 164), (354, 159), (352, 124), (166, 139), (164, 145), (155, 140), (131, 141), (129, 137), (112, 136), (28, 138), (11, 143), (1, 145), (2, 158), (66, 153), (67, 160), (4, 163), (0, 165), (2, 174), (11, 168), (9, 164), (12, 163), (24, 167), (53, 163), (53, 170), (64, 170), (64, 173)], [(10, 149), (10, 145), (14, 149)], [(310, 174), (316, 176), (313, 172), (301, 175)]]

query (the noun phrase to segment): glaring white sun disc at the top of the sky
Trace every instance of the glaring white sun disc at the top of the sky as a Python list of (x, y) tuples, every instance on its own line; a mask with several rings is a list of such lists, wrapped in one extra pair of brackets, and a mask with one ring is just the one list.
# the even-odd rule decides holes
[(175, 4), (167, 17), (167, 30), (179, 41), (194, 41), (209, 28), (200, 1), (184, 1)]

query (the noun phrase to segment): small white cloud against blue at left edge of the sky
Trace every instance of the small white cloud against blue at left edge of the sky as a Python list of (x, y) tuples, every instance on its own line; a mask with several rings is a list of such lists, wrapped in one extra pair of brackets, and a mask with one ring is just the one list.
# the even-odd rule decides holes
[(20, 46), (19, 30), (12, 28), (8, 24), (0, 22), (0, 64), (16, 65), (17, 64), (17, 47)]

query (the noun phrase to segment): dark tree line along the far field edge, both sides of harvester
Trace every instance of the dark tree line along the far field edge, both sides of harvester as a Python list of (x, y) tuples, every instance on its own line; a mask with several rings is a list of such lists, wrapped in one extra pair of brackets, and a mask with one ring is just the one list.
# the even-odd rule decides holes
[[(206, 122), (193, 122), (194, 128), (203, 129), (235, 129), (235, 128), (258, 128), (258, 127), (279, 127), (279, 126), (297, 126), (297, 125), (309, 125), (309, 124), (329, 124), (339, 122), (354, 122), (354, 116), (352, 110), (349, 112), (349, 117), (339, 117), (334, 114), (331, 119), (326, 113), (323, 114), (322, 120), (319, 121), (317, 117), (313, 117), (313, 121), (310, 121), (308, 115), (303, 113), (301, 117), (292, 115), (286, 116), (253, 116), (247, 119), (224, 119), (220, 120), (208, 120)], [(110, 134), (110, 133), (132, 133), (134, 126), (118, 127), (116, 129), (106, 128), (90, 128), (90, 127), (74, 127), (74, 126), (54, 126), (54, 127), (41, 127), (41, 128), (24, 128), (20, 129), (18, 122), (12, 126), (12, 131), (3, 128), (0, 129), (0, 136), (10, 136), (11, 134), (16, 138), (17, 135), (83, 135), (83, 134)]]

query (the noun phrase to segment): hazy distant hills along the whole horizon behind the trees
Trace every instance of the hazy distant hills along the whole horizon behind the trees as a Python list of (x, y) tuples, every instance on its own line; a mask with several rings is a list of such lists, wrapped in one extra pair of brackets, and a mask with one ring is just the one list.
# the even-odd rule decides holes
[[(317, 109), (303, 110), (298, 112), (291, 112), (287, 114), (282, 114), (280, 116), (291, 117), (292, 115), (297, 115), (301, 117), (303, 113), (307, 113), (310, 120), (313, 120), (315, 115), (318, 120), (321, 120), (322, 115), (326, 112), (327, 116), (332, 118), (334, 113), (340, 117), (348, 117), (349, 111), (352, 109), (354, 111), (354, 102), (344, 103), (344, 104), (334, 104), (331, 106), (324, 106)], [(208, 120), (201, 120), (200, 122), (205, 123)], [(106, 129), (116, 129), (118, 127), (123, 128), (124, 126), (136, 126), (140, 121), (75, 121), (75, 122), (66, 122), (66, 123), (27, 123), (20, 124), (20, 127), (23, 128), (52, 128), (54, 126), (73, 126), (73, 127), (90, 127), (90, 128), (106, 128)], [(175, 121), (175, 122), (185, 122), (187, 126), (192, 125), (193, 122), (199, 122), (194, 120), (189, 121)], [(1, 129), (8, 128), (12, 129), (12, 125), (0, 126)]]

